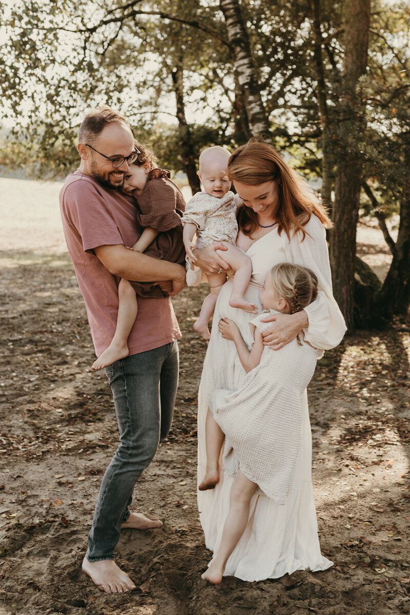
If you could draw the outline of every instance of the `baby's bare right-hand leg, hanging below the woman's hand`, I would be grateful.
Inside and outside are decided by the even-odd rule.
[[[243,309],[250,314],[258,314],[258,307],[245,299],[245,293],[252,275],[252,261],[236,245],[228,244],[227,242],[223,242],[223,244],[228,249],[224,252],[218,252],[218,250],[216,252],[219,256],[223,255],[224,260],[235,272],[229,305],[232,308]]]

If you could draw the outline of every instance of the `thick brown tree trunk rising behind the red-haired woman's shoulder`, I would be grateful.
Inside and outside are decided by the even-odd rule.
[[[353,287],[356,258],[356,227],[360,204],[360,135],[365,128],[357,82],[365,73],[370,23],[370,0],[345,0],[344,75],[337,122],[336,180],[330,233],[333,290],[345,317],[347,333],[355,331]]]

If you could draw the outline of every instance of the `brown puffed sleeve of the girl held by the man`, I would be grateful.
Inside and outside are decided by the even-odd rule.
[[[147,182],[138,197],[140,223],[152,226],[156,231],[170,231],[181,226],[181,216],[176,212],[177,188],[166,178],[155,178]]]

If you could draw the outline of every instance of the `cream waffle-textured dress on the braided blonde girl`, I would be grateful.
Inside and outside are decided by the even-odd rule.
[[[261,322],[275,310],[264,310],[250,322],[262,333],[272,326]],[[320,353],[321,354],[321,353]],[[215,389],[209,407],[226,434],[223,464],[226,474],[242,474],[278,504],[286,495],[302,441],[304,391],[315,371],[318,351],[293,339],[274,352],[262,351],[259,365],[246,374],[232,393]]]

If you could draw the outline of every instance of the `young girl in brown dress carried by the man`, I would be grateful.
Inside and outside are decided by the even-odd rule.
[[[140,152],[125,175],[121,190],[136,199],[135,217],[144,230],[130,248],[148,256],[172,263],[185,264],[183,226],[184,197],[170,179],[170,172],[156,167],[156,156],[147,147],[136,143]],[[128,355],[127,339],[138,312],[136,295],[141,297],[169,296],[172,287],[153,282],[133,282],[121,279],[118,285],[118,316],[114,337],[106,351],[92,365],[92,370],[111,365]]]

